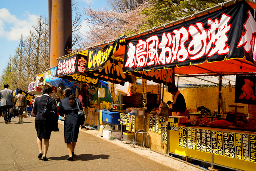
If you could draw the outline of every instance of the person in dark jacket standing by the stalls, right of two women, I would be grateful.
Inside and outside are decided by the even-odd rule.
[[[88,91],[88,84],[87,83],[83,83],[82,85],[82,89],[81,92],[79,94],[79,100],[81,101],[81,105],[83,107],[83,111],[84,111],[84,115],[85,115],[85,121],[84,124],[81,127],[81,130],[86,131],[87,128],[85,127],[86,125],[86,120],[87,120],[87,115],[88,115],[88,106],[89,106],[89,91]]]

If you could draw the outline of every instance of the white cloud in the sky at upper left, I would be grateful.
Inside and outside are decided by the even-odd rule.
[[[0,37],[7,40],[18,40],[22,35],[28,35],[32,25],[36,23],[37,15],[26,12],[22,15],[25,19],[18,19],[9,10],[0,9]]]

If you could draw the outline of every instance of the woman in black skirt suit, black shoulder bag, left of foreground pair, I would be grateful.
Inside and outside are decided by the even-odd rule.
[[[36,115],[35,126],[37,131],[37,144],[39,148],[38,158],[43,156],[43,161],[48,161],[46,153],[49,148],[49,139],[52,131],[59,131],[58,129],[58,114],[55,99],[50,98],[52,95],[52,88],[45,85],[42,89],[43,95],[34,101],[33,114]],[[46,104],[47,103],[47,104]],[[51,111],[46,118],[42,116],[44,106],[48,111]],[[44,154],[42,153],[42,143],[44,139]]]

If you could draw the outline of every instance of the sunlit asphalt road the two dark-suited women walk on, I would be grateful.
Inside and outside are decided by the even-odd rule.
[[[115,145],[108,140],[79,132],[74,161],[67,161],[64,126],[52,132],[48,161],[38,159],[34,117],[4,124],[0,117],[0,171],[174,171],[172,168]]]

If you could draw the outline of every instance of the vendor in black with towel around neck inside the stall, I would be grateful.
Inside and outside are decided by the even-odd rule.
[[[177,87],[168,86],[168,92],[172,94],[172,108],[186,110],[186,102]]]

